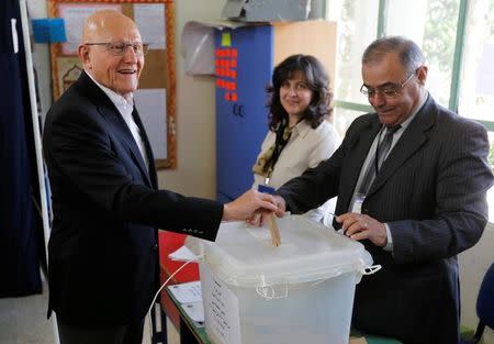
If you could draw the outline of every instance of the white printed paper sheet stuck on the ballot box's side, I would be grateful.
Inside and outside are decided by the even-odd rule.
[[[206,269],[201,269],[201,279],[203,280],[202,298],[206,331],[212,332],[207,334],[221,341],[222,344],[240,344],[237,297],[226,284]]]

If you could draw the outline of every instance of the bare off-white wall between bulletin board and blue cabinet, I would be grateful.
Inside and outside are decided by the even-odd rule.
[[[214,78],[184,73],[180,53],[183,25],[220,19],[226,0],[176,1],[177,168],[158,173],[159,186],[187,196],[215,198]]]

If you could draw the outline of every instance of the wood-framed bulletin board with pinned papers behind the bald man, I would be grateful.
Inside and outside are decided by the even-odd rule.
[[[97,10],[113,9],[137,24],[149,51],[134,101],[158,169],[177,166],[173,4],[175,0],[48,0],[49,16],[64,19],[67,36],[67,42],[50,46],[55,100],[82,71],[77,47],[86,18]]]

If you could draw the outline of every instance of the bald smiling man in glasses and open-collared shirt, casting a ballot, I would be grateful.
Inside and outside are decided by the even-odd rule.
[[[141,344],[157,287],[157,228],[214,241],[272,196],[231,203],[157,189],[153,152],[133,100],[147,45],[134,22],[99,11],[83,27],[85,70],[49,110],[43,135],[53,199],[49,306],[61,344]]]

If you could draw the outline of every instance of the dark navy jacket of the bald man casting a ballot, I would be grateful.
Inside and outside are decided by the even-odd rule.
[[[49,309],[69,325],[144,319],[159,282],[157,228],[216,237],[223,206],[157,190],[122,115],[82,73],[49,110],[43,134],[53,200]]]

